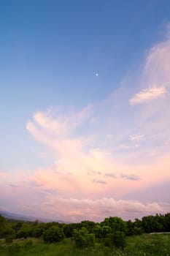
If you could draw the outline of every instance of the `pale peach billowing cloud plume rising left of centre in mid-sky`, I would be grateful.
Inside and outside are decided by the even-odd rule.
[[[86,110],[82,110],[80,113],[86,113]],[[111,162],[113,161],[109,151],[96,147],[93,136],[88,138],[85,135],[75,135],[77,129],[80,129],[82,125],[82,116],[84,114],[82,115],[80,113],[74,113],[75,116],[72,114],[71,117],[65,115],[65,121],[64,115],[62,116],[61,113],[55,116],[55,118],[52,118],[51,116],[47,116],[46,113],[39,112],[38,116],[43,116],[43,122],[40,122],[39,118],[35,118],[36,115],[34,114],[33,120],[28,121],[27,129],[36,140],[43,143],[53,152],[53,166],[59,173],[73,173],[77,178],[79,176],[81,178],[82,173],[83,175],[90,173],[91,176],[101,175],[101,170],[110,170],[113,165]],[[77,116],[79,116],[81,121],[77,121]],[[67,131],[64,134],[62,129],[54,129],[54,124],[57,127],[58,124],[62,126],[61,119]],[[76,120],[76,123],[73,120]],[[50,127],[45,125],[46,123],[48,125],[50,123],[53,124],[53,128],[50,129]],[[80,133],[79,130],[78,132]],[[93,143],[94,146],[91,146]]]

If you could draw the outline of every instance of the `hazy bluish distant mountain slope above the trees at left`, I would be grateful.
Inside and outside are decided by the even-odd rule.
[[[26,215],[22,215],[22,214],[13,214],[9,211],[0,210],[0,214],[1,214],[1,216],[3,216],[6,219],[17,219],[17,220],[23,220],[23,221],[27,221],[27,222],[34,222],[36,219],[38,219],[39,222],[59,222],[59,223],[63,223],[62,220],[32,217],[32,216],[26,216]]]

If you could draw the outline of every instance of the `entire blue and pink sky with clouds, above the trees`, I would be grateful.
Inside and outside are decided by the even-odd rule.
[[[170,212],[170,1],[0,1],[0,210]]]

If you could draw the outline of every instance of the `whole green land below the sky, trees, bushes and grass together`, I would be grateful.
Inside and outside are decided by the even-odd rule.
[[[151,234],[154,233],[154,234]],[[26,222],[0,215],[0,256],[170,256],[170,214],[100,223]]]

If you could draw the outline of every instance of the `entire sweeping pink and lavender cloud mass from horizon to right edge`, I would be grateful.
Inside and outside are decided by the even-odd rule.
[[[8,184],[0,173],[1,195],[20,211],[67,221],[170,211],[163,197],[128,197],[170,181],[169,37],[147,53],[138,85],[129,83],[82,110],[36,111],[26,129],[53,164]]]

